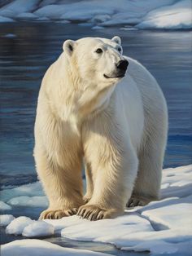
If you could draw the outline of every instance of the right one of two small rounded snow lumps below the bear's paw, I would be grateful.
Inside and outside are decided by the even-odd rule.
[[[53,225],[44,221],[38,220],[24,227],[22,236],[37,237],[54,235],[55,228]]]

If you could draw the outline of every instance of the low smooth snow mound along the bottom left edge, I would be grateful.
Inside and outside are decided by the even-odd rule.
[[[2,256],[107,256],[110,254],[94,253],[87,249],[63,248],[59,245],[51,244],[47,241],[37,239],[24,239],[13,241],[7,245],[2,245]]]

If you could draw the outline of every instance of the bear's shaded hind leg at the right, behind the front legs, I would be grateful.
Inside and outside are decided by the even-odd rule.
[[[139,152],[137,179],[127,207],[147,205],[159,199],[167,133],[155,131],[154,137],[147,138]]]

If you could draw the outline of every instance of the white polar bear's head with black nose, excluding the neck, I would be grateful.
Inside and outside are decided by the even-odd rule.
[[[111,40],[81,38],[65,41],[63,51],[72,72],[77,73],[83,83],[110,86],[124,77],[129,64],[122,55],[120,44],[119,37]]]

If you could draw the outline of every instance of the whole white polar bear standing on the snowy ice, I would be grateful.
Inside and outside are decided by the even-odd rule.
[[[34,157],[50,202],[40,218],[115,218],[157,200],[167,132],[162,91],[119,37],[65,41],[37,103]]]

